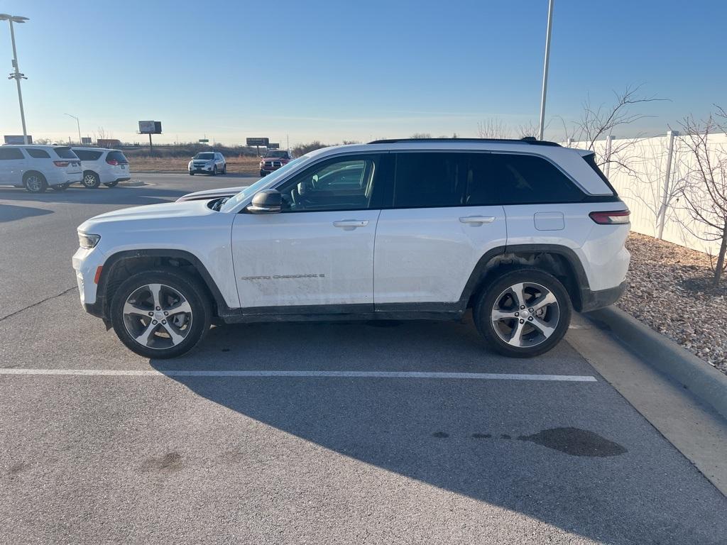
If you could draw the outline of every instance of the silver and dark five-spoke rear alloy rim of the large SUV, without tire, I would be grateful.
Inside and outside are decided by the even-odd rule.
[[[538,283],[521,282],[502,291],[490,313],[495,333],[510,346],[534,347],[555,332],[561,318],[558,299]]]

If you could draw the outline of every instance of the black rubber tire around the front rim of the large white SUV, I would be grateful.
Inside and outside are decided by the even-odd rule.
[[[190,304],[192,310],[190,331],[179,344],[159,348],[148,347],[137,342],[126,328],[124,321],[126,299],[134,294],[134,291],[150,283],[164,284],[173,288],[182,294]],[[209,330],[211,321],[212,306],[204,286],[196,278],[182,273],[174,267],[159,267],[130,276],[116,289],[111,299],[111,324],[113,330],[116,331],[116,335],[119,336],[121,342],[126,344],[129,350],[145,358],[176,358],[189,352]],[[145,327],[144,324],[140,324],[140,326]],[[159,329],[161,329],[161,326],[159,326]],[[160,333],[164,334],[157,330],[153,334],[154,338],[164,341],[164,337],[158,337]]]

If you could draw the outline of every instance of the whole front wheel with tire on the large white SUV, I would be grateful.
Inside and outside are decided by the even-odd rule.
[[[172,267],[132,275],[111,301],[116,335],[145,358],[175,358],[192,350],[211,320],[204,287]]]

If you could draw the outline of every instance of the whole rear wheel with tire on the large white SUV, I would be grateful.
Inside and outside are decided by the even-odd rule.
[[[473,318],[494,350],[532,358],[563,339],[571,323],[571,298],[561,281],[545,271],[512,270],[483,290]]]

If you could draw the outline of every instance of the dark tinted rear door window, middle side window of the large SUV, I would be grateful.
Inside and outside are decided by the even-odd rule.
[[[467,185],[466,153],[398,153],[395,208],[462,206]]]

